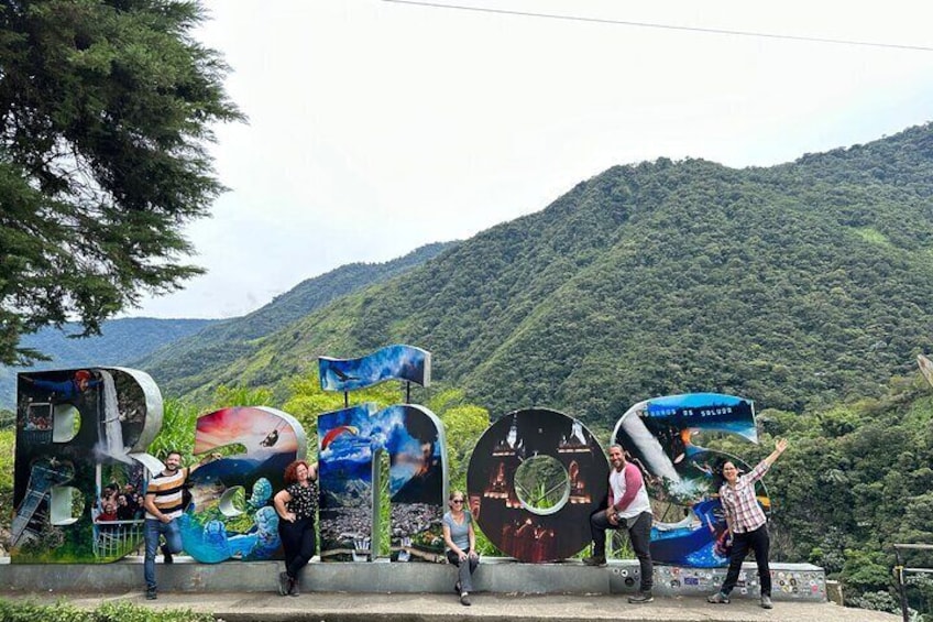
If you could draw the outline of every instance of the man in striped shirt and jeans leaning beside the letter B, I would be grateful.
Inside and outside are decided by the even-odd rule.
[[[217,455],[209,458],[217,458]],[[182,455],[169,451],[165,458],[165,470],[152,478],[146,487],[145,501],[145,563],[143,576],[146,582],[146,598],[155,600],[158,592],[155,585],[155,550],[158,548],[160,536],[165,537],[162,554],[165,564],[172,564],[172,555],[182,550],[182,532],[177,519],[185,511],[183,492],[185,481],[198,467],[182,468]]]

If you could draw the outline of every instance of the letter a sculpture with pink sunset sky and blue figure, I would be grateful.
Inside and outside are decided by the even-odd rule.
[[[285,467],[305,458],[305,430],[292,415],[263,406],[198,417],[196,455],[238,444],[245,454],[208,462],[188,480],[191,504],[180,519],[182,542],[198,561],[281,558],[272,493],[284,487]]]

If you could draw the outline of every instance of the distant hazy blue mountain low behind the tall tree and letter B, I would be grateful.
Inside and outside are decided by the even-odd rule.
[[[31,368],[0,367],[0,408],[17,403],[17,373],[46,369],[87,365],[125,365],[129,361],[216,324],[216,319],[155,319],[133,317],[112,319],[101,326],[101,335],[70,338],[80,334],[78,324],[66,324],[62,330],[43,328],[22,338],[23,348],[33,348],[51,357]]]

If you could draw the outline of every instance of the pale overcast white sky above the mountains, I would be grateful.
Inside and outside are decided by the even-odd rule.
[[[208,0],[249,124],[188,238],[209,270],[129,315],[231,317],[354,261],[544,209],[616,164],[770,165],[933,120],[923,0]]]

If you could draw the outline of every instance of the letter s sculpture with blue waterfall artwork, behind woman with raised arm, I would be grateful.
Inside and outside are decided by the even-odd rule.
[[[731,460],[749,469],[732,456],[694,445],[693,437],[701,432],[757,443],[753,403],[716,393],[656,397],[632,406],[613,433],[613,443],[622,445],[641,469],[656,501],[651,559],[659,564],[712,568],[728,561],[722,553],[726,533],[718,501],[722,468]],[[769,510],[760,482],[758,500]]]

